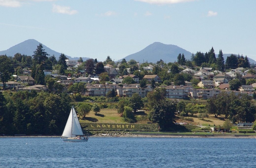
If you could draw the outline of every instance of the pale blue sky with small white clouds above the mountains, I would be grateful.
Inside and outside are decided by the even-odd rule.
[[[256,60],[255,9],[255,0],[0,0],[0,51],[35,39],[71,57],[116,61],[161,42]]]

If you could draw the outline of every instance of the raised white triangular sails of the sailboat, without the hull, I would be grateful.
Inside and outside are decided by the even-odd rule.
[[[83,131],[78,121],[74,106],[72,106],[62,137],[76,137],[78,135],[83,136]]]

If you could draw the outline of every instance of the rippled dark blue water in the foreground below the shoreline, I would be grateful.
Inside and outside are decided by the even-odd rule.
[[[256,139],[0,138],[0,167],[256,167]]]

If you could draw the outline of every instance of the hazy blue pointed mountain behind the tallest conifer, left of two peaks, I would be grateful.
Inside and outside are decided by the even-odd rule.
[[[29,39],[29,40],[23,41],[19,44],[16,44],[15,46],[12,46],[7,50],[0,51],[0,55],[7,55],[7,56],[13,57],[16,53],[20,53],[20,54],[32,56],[34,54],[34,51],[36,51],[37,46],[39,44],[40,44],[40,42],[38,42],[34,39]],[[47,52],[47,54],[49,54],[50,56],[54,55],[56,58],[58,58],[61,55],[61,53],[50,49],[49,47],[47,47],[44,44],[42,44],[42,46],[44,47],[43,49],[45,49],[45,52]],[[65,54],[65,56],[68,57],[69,59],[79,59],[78,57],[72,58],[71,56],[68,56],[66,54]],[[83,57],[84,61],[87,59],[89,59],[89,58]]]

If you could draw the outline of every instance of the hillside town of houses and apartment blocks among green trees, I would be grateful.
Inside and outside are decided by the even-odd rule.
[[[39,45],[38,47],[38,50],[42,52],[42,46]],[[17,59],[18,57],[20,63]],[[256,69],[250,67],[229,68],[225,71],[220,71],[216,67],[197,66],[195,61],[193,62],[194,66],[189,67],[185,64],[178,64],[180,63],[179,61],[177,63],[164,64],[162,60],[158,63],[138,63],[135,60],[126,61],[123,59],[122,62],[114,62],[109,56],[104,63],[98,63],[97,59],[88,59],[86,61],[82,59],[66,59],[64,54],[59,58],[59,60],[62,59],[63,65],[53,59],[50,63],[52,67],[43,69],[43,75],[46,80],[51,78],[54,79],[54,82],[61,84],[57,85],[59,88],[52,88],[51,86],[49,87],[47,81],[42,82],[34,79],[33,66],[24,66],[26,64],[22,63],[22,58],[25,56],[21,57],[17,53],[12,58],[16,62],[18,61],[18,64],[23,64],[23,66],[14,66],[16,68],[13,74],[8,74],[10,76],[8,81],[0,76],[2,77],[2,82],[0,83],[2,90],[35,90],[36,92],[49,91],[72,94],[73,92],[69,87],[74,83],[84,82],[86,90],[81,94],[87,96],[105,96],[106,93],[114,89],[118,97],[131,97],[133,93],[138,93],[143,98],[154,88],[160,87],[166,89],[166,98],[206,100],[218,95],[220,92],[228,94],[232,92],[235,95],[247,94],[252,97],[255,94],[254,88],[256,88]],[[30,59],[32,62],[33,58],[30,57]],[[180,58],[178,57],[178,59]],[[46,61],[49,62],[49,59]],[[56,64],[55,66],[54,63]],[[1,66],[2,73],[6,71],[3,68]],[[163,74],[163,71],[165,74]],[[104,83],[102,83],[99,77],[100,73],[106,73],[109,80],[104,80]],[[173,75],[178,76],[178,81]],[[146,82],[143,86],[140,83],[142,79]],[[234,88],[232,84],[232,87],[230,87],[230,82],[236,80],[239,80],[237,81],[238,86]]]

